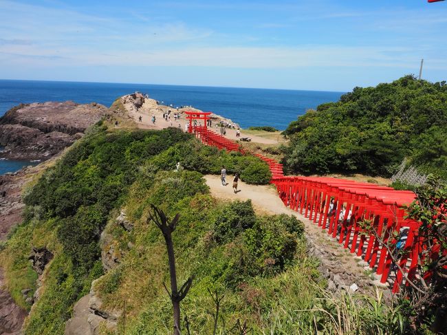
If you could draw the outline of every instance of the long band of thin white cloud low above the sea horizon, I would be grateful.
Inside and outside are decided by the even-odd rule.
[[[65,47],[58,52],[36,45],[0,45],[3,54],[14,54],[9,63],[26,61],[39,65],[194,66],[240,68],[287,67],[417,67],[413,50],[402,47],[179,47],[144,50],[100,50]],[[31,58],[35,58],[32,60]],[[447,69],[444,59],[426,61],[427,68]]]

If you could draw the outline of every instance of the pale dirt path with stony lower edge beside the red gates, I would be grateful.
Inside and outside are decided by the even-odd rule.
[[[309,250],[321,261],[320,270],[327,277],[329,288],[349,287],[356,283],[358,291],[364,294],[375,294],[374,285],[380,286],[378,281],[371,278],[371,272],[364,268],[359,257],[355,257],[347,249],[342,248],[325,231],[306,219],[300,213],[287,208],[276,194],[272,185],[249,185],[239,182],[239,192],[235,194],[232,189],[232,177],[227,178],[227,186],[222,186],[219,175],[206,175],[206,184],[210,186],[213,196],[219,199],[252,201],[254,209],[260,214],[287,214],[294,215],[305,224],[305,235],[309,243]]]

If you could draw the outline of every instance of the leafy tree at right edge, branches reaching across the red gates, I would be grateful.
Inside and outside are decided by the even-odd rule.
[[[396,271],[406,280],[400,298],[409,304],[407,317],[412,332],[420,334],[429,325],[436,334],[444,334],[447,329],[447,185],[429,175],[427,183],[415,193],[417,198],[404,206],[406,218],[419,222],[413,241],[419,250],[413,272],[406,273],[399,261],[411,252],[408,248],[396,248],[399,233],[391,233],[384,239],[371,220],[360,224],[364,233],[375,235],[386,248]]]

